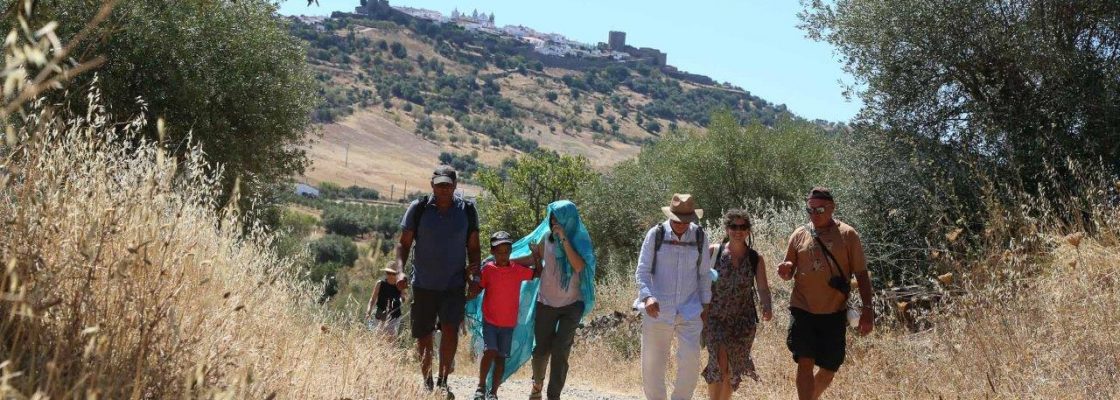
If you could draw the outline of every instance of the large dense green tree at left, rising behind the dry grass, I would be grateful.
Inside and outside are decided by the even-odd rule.
[[[36,7],[69,43],[101,2]],[[199,142],[207,160],[225,169],[223,188],[240,178],[243,210],[254,196],[286,190],[289,177],[304,171],[315,83],[306,45],[277,18],[273,2],[124,0],[88,34],[69,54],[106,56],[96,74],[103,105],[118,118],[162,118],[168,149]],[[94,76],[73,84],[90,85]],[[55,93],[65,99],[53,103],[88,104],[81,91]],[[158,139],[155,124],[146,133]]]

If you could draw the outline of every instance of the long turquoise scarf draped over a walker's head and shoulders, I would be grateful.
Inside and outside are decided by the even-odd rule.
[[[553,215],[557,217],[557,222],[563,226],[564,235],[571,242],[572,249],[584,259],[585,267],[579,275],[579,290],[584,297],[582,317],[587,317],[591,309],[595,308],[595,251],[591,246],[591,235],[588,234],[587,226],[584,226],[584,221],[580,220],[575,203],[558,201],[549,204],[544,221],[541,221],[532,233],[513,243],[513,253],[510,254],[510,258],[517,259],[532,254],[532,246],[541,243],[541,241],[544,241],[541,243],[543,245],[556,245],[557,267],[560,268],[561,277],[560,285],[567,288],[571,282],[575,269],[571,267],[571,262],[568,260],[568,255],[560,242],[548,241],[548,236],[552,234],[550,221]],[[521,305],[517,309],[517,326],[513,328],[513,345],[510,347],[510,356],[505,360],[503,381],[517,372],[533,356],[533,345],[535,344],[533,324],[536,316],[536,295],[540,292],[540,279],[521,283]],[[484,290],[478,297],[467,303],[466,320],[472,334],[472,348],[476,353],[482,353],[484,348],[483,298],[485,296],[486,292]]]

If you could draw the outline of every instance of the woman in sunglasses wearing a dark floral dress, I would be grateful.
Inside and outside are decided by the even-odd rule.
[[[766,262],[750,245],[750,216],[743,210],[728,211],[724,214],[724,230],[727,239],[710,249],[718,277],[711,283],[703,333],[708,343],[703,379],[712,400],[730,399],[743,375],[758,380],[750,359],[758,325],[755,296],[762,304],[763,320],[773,317]]]

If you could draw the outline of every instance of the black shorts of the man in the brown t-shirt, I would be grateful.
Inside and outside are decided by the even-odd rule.
[[[847,345],[847,311],[812,314],[791,307],[785,345],[793,353],[793,362],[810,357],[816,366],[833,372],[840,370]]]

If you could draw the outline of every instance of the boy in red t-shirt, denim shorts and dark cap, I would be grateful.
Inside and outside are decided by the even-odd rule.
[[[505,372],[505,359],[513,343],[513,328],[517,326],[517,306],[521,305],[521,282],[536,278],[533,269],[510,261],[513,240],[503,231],[491,235],[491,254],[494,261],[482,270],[479,287],[486,290],[483,297],[483,353],[478,368],[478,390],[475,400],[497,399],[497,388]],[[536,257],[534,254],[533,259]],[[536,269],[540,271],[540,269]],[[486,373],[494,366],[494,387],[486,393]]]

